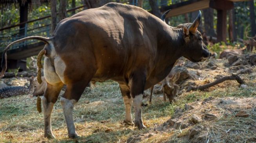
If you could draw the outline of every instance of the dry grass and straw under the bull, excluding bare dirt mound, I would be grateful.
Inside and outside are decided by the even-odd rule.
[[[229,75],[223,67],[223,63],[216,61],[219,70],[202,70],[205,75],[203,79],[196,81],[196,84],[205,84],[208,80],[218,74]],[[220,68],[222,67],[222,68]],[[164,103],[161,95],[154,95],[153,103],[143,107],[142,116],[147,129],[138,130],[136,127],[124,125],[124,105],[118,84],[113,81],[96,83],[93,90],[86,89],[74,108],[74,120],[78,134],[78,139],[67,138],[67,128],[64,115],[59,100],[54,106],[52,114],[53,133],[56,139],[44,138],[44,118],[43,114],[36,111],[36,98],[28,96],[12,97],[0,100],[0,143],[123,143],[129,137],[139,134],[151,134],[143,139],[143,143],[162,143],[162,142],[190,142],[188,138],[191,125],[185,129],[173,129],[172,127],[163,130],[154,130],[163,125],[170,118],[175,116],[176,109],[184,109],[185,104],[194,105],[195,110],[188,110],[183,116],[198,114],[203,110],[211,110],[217,118],[211,121],[200,122],[204,127],[202,131],[203,142],[255,142],[256,112],[255,106],[248,108],[249,117],[234,117],[236,114],[232,109],[235,104],[228,108],[218,106],[219,98],[226,97],[238,99],[249,99],[256,97],[256,69],[253,68],[252,74],[241,75],[245,80],[247,88],[239,88],[235,81],[226,81],[218,86],[209,89],[208,92],[192,91],[183,93],[177,102],[170,105]],[[149,91],[146,91],[149,93]],[[63,94],[63,93],[62,93]],[[216,102],[207,103],[201,106],[198,103],[205,98],[213,97]],[[149,97],[144,99],[147,102]],[[198,106],[196,106],[198,104]],[[255,103],[254,103],[255,105]],[[248,104],[249,106],[249,104]],[[240,109],[242,109],[242,105]],[[251,111],[249,111],[251,109]],[[254,110],[253,110],[254,109]],[[246,109],[247,110],[247,109]],[[134,116],[134,115],[133,115]]]

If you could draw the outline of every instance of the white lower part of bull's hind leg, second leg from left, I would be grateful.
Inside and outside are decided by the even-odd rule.
[[[61,98],[60,102],[62,104],[63,113],[65,116],[66,124],[67,124],[67,132],[69,134],[69,138],[76,138],[78,134],[76,133],[76,129],[74,127],[73,120],[73,109],[76,100],[68,100],[66,98]]]

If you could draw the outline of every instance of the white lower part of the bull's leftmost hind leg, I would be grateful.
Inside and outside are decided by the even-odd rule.
[[[51,129],[51,113],[54,103],[48,103],[45,97],[42,97],[42,102],[44,108],[44,137],[55,138]]]

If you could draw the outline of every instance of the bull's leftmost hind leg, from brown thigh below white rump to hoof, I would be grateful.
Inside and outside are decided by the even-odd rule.
[[[44,109],[44,137],[55,138],[51,129],[51,113],[53,111],[54,103],[58,99],[60,90],[63,84],[60,83],[56,86],[52,86],[47,83],[47,89],[44,97],[42,97],[43,109]]]

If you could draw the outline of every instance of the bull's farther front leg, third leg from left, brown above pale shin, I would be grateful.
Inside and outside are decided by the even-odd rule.
[[[123,103],[125,105],[125,119],[124,123],[133,124],[133,118],[131,115],[131,105],[133,103],[131,92],[128,86],[119,83],[119,87],[123,96]]]

